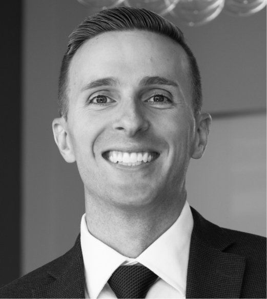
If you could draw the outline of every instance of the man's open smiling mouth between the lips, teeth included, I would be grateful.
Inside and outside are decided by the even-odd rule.
[[[117,163],[126,166],[136,166],[144,163],[149,163],[158,158],[159,154],[156,152],[119,152],[109,151],[104,153],[104,158],[112,163]]]

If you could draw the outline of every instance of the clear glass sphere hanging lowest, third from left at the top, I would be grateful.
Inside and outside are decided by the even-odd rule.
[[[212,21],[223,9],[224,0],[180,0],[170,14],[188,26]]]

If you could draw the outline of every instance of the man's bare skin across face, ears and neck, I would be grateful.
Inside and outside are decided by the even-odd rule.
[[[53,121],[55,142],[67,162],[77,162],[90,233],[128,257],[139,256],[179,217],[189,161],[207,145],[211,117],[194,117],[188,70],[179,44],[137,30],[96,36],[71,61],[68,121]],[[116,84],[88,85],[107,77]],[[175,84],[142,84],[148,77]],[[107,102],[97,103],[97,96]],[[118,165],[102,156],[112,150],[158,157]]]

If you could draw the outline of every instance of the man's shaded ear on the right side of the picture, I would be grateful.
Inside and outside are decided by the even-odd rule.
[[[196,133],[192,158],[199,159],[203,156],[210,133],[211,116],[208,113],[198,114],[196,117]]]

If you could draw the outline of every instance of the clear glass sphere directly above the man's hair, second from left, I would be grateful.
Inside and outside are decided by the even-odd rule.
[[[155,13],[165,15],[175,8],[179,0],[125,0],[124,5],[145,8]]]

